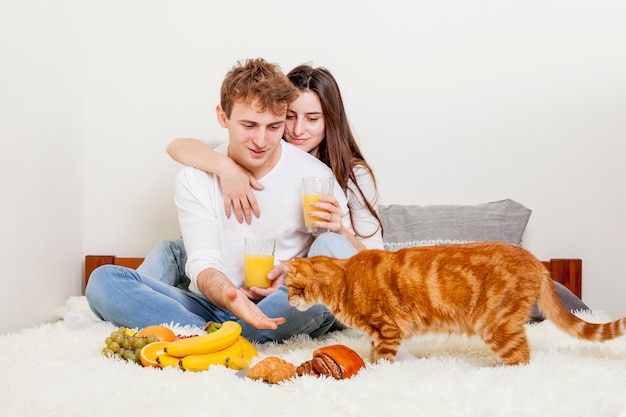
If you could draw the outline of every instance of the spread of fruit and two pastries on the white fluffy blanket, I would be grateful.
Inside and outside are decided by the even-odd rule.
[[[212,365],[244,370],[258,355],[254,345],[241,336],[241,325],[235,321],[210,322],[205,330],[206,334],[183,336],[166,326],[148,326],[138,332],[120,327],[105,339],[102,354],[143,366],[185,371],[205,371]],[[315,350],[313,358],[298,367],[276,356],[267,357],[250,368],[246,377],[270,384],[303,375],[348,379],[364,367],[355,351],[331,345]]]

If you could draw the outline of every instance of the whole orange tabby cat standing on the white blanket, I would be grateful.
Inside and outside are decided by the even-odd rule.
[[[567,310],[550,273],[527,250],[497,242],[366,250],[349,259],[283,261],[289,302],[326,305],[372,339],[370,361],[392,361],[403,339],[426,332],[478,334],[507,365],[527,363],[524,325],[535,302],[572,336],[609,340],[626,318],[592,324]]]

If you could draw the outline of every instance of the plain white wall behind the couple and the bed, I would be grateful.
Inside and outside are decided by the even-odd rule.
[[[0,331],[78,294],[83,255],[178,235],[165,147],[224,140],[220,82],[257,56],[335,74],[384,203],[515,199],[533,210],[525,246],[582,258],[584,301],[626,315],[621,0],[15,4],[29,24],[1,14],[14,67],[0,81]]]

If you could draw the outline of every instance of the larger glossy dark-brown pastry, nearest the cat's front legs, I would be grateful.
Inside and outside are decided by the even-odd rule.
[[[296,373],[347,379],[364,367],[365,362],[355,351],[344,345],[332,345],[313,352],[313,359],[301,363]]]

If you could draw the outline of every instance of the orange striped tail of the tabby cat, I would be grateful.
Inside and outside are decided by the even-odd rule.
[[[548,271],[541,281],[538,304],[539,309],[548,320],[579,339],[602,342],[626,334],[626,317],[610,323],[596,324],[586,322],[575,316],[561,302]]]

